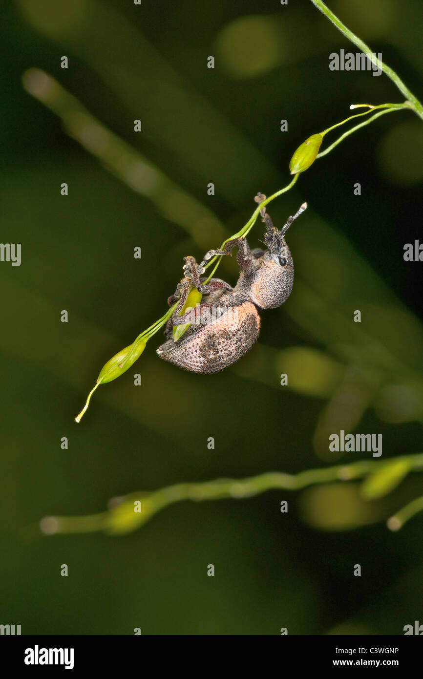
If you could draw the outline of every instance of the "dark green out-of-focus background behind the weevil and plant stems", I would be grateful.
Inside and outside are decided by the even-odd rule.
[[[329,5],[421,98],[421,1]],[[372,502],[355,482],[181,502],[122,536],[42,536],[39,520],[183,481],[371,459],[330,454],[340,429],[381,433],[383,460],[421,449],[422,274],[403,246],[420,234],[422,121],[382,117],[268,208],[282,225],[309,206],[288,234],[293,293],[262,312],[242,361],[186,373],[155,354],[160,332],[77,425],[105,361],[166,311],[182,257],[239,230],[257,191],[287,185],[295,148],[350,103],[403,97],[384,75],[329,71],[331,52],[357,50],[306,0],[16,0],[1,18],[1,240],[22,243],[22,265],[0,265],[0,622],[22,634],[403,634],[422,614],[422,517],[397,533],[385,521],[422,494],[419,474]],[[261,223],[250,236],[260,244]],[[234,258],[218,275],[236,282]]]

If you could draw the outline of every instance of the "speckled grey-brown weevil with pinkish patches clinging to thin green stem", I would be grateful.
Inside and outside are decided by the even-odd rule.
[[[257,194],[255,201],[265,200]],[[294,265],[285,234],[294,219],[306,210],[301,205],[281,230],[276,229],[265,207],[260,211],[265,224],[265,250],[251,250],[246,238],[234,238],[223,250],[209,250],[200,264],[194,257],[184,257],[184,277],[168,298],[169,306],[178,302],[166,325],[167,341],[157,349],[160,358],[194,373],[216,373],[238,361],[255,344],[260,331],[258,309],[274,309],[291,294]],[[202,278],[206,262],[215,255],[229,255],[238,247],[236,260],[240,276],[232,288],[220,278],[208,282]],[[196,309],[185,310],[191,287],[206,295]],[[204,299],[204,298],[203,298]],[[190,323],[185,333],[174,341],[172,329]]]

